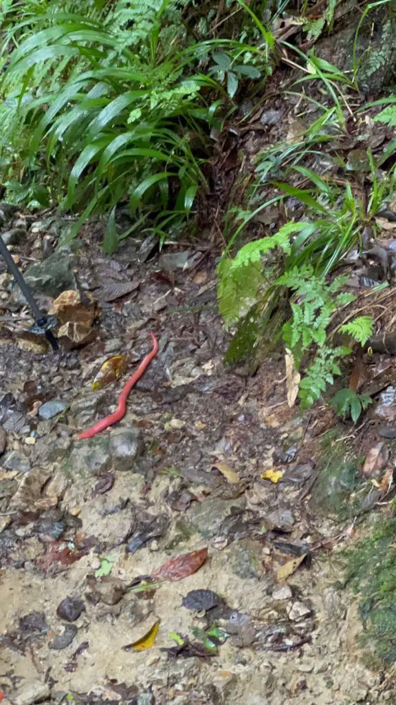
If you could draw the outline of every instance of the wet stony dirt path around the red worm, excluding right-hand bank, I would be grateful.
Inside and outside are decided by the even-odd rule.
[[[281,356],[254,377],[225,369],[217,252],[179,243],[160,255],[128,240],[110,259],[97,223],[85,245],[54,260],[51,219],[31,216],[25,227],[12,250],[23,268],[44,262],[47,278],[35,285],[43,309],[78,290],[94,313],[74,309],[85,329],[68,329],[60,352],[46,350],[24,332],[28,309],[0,275],[4,699],[396,701],[385,667],[363,658],[357,602],[340,586],[339,537],[352,528],[309,502],[333,417],[287,407]],[[159,354],[123,420],[76,440],[116,408],[153,331]],[[113,355],[126,356],[127,369],[92,391]],[[169,560],[204,548],[195,572],[161,575]]]

